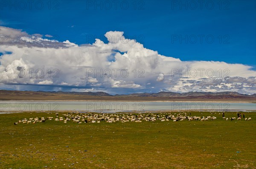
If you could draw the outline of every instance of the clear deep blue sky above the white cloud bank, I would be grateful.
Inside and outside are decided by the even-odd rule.
[[[116,9],[111,3],[109,10],[104,1],[98,2],[102,3],[102,9],[101,6],[94,6],[94,1],[52,1],[50,10],[47,2],[41,10],[35,8],[35,3],[32,3],[32,9],[26,4],[24,10],[20,9],[22,4],[17,10],[14,6],[9,10],[9,4],[1,4],[1,25],[22,29],[29,34],[58,35],[58,40],[69,39],[76,44],[93,43],[91,36],[102,38],[107,31],[124,31],[125,36],[135,38],[145,48],[165,56],[183,61],[242,63],[255,68],[254,0],[222,1],[221,10],[217,1],[211,1],[214,2],[211,10],[210,3],[208,6],[203,3],[201,9],[197,3],[198,8],[193,9],[191,1],[183,1],[187,6],[181,6],[181,9],[180,4],[176,5],[179,1],[137,1],[135,9],[134,1],[118,1]],[[125,10],[121,8],[121,3],[125,8],[126,2],[129,7]],[[37,5],[40,8],[40,4]],[[180,36],[186,38],[186,35],[188,42],[182,40],[180,44]],[[201,35],[204,36],[202,43]],[[178,39],[174,40],[177,36]],[[211,39],[207,41],[207,36],[213,37],[214,41],[209,43]],[[197,37],[195,43],[194,37]]]

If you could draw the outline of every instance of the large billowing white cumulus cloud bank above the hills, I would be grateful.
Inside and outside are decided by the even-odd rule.
[[[6,89],[105,91],[108,93],[237,91],[253,94],[256,71],[243,64],[181,61],[145,48],[122,31],[108,43],[59,42],[51,35],[0,26],[1,87]],[[19,36],[10,40],[8,36]],[[23,38],[23,39],[22,39]],[[50,38],[50,39],[49,39]],[[171,52],[170,52],[171,53]],[[38,85],[38,87],[37,87]],[[50,88],[52,87],[52,88]],[[2,88],[1,88],[2,89]]]

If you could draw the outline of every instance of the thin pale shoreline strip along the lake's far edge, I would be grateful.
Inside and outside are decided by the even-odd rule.
[[[256,101],[160,101],[160,100],[157,100],[157,101],[132,101],[132,100],[118,100],[118,101],[113,101],[113,100],[110,100],[110,101],[106,101],[106,100],[0,100],[0,102],[12,102],[12,101],[17,101],[17,102],[46,102],[46,101],[93,101],[93,102],[192,102],[192,103],[195,103],[195,102],[198,102],[198,103],[255,103],[256,104]]]

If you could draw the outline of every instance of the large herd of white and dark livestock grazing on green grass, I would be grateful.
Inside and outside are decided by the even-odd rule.
[[[52,113],[47,113],[52,114]],[[214,113],[211,113],[214,114]],[[216,114],[216,113],[215,113]],[[221,113],[219,113],[221,114]],[[175,117],[176,115],[176,117]],[[191,113],[189,113],[191,115]],[[53,117],[36,117],[36,118],[29,118],[29,119],[22,119],[14,123],[14,125],[17,125],[19,123],[23,124],[36,124],[40,122],[45,122],[47,120],[54,120],[54,121],[62,121],[64,123],[67,123],[68,121],[73,121],[75,123],[81,124],[81,123],[100,123],[102,121],[105,121],[107,123],[114,123],[114,122],[128,122],[128,121],[134,121],[134,122],[142,122],[142,121],[214,121],[217,119],[215,116],[189,116],[187,113],[174,113],[172,114],[166,114],[166,113],[138,113],[137,115],[134,115],[132,113],[129,114],[95,114],[95,113],[79,113],[79,112],[72,112],[67,114],[62,114],[63,117],[59,117],[59,113],[55,113],[55,118]],[[202,115],[202,114],[201,114]],[[232,118],[225,118],[224,120],[235,120],[235,117]],[[241,118],[237,118],[237,121],[241,121]],[[251,121],[251,118],[245,118],[245,121]]]

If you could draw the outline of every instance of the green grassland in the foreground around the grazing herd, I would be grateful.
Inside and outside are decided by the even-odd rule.
[[[55,117],[55,112],[1,114],[0,168],[255,169],[256,113],[244,114],[252,121],[226,121],[216,112],[215,121],[202,122],[64,124],[48,120],[17,125],[14,122],[23,118]],[[210,112],[193,115],[213,116]],[[225,117],[236,117],[236,113]]]

